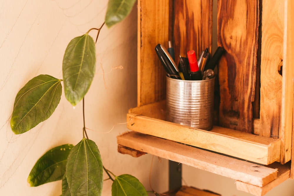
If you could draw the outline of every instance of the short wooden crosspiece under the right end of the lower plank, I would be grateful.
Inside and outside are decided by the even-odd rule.
[[[287,180],[289,178],[289,175],[290,175],[290,163],[287,163],[285,165],[280,165],[280,164],[279,165],[275,164],[275,165],[276,165],[276,167],[273,167],[273,168],[278,169],[278,175],[277,175],[277,178],[275,180],[273,180],[270,183],[264,185],[263,187],[250,185],[248,183],[241,182],[241,181],[237,180],[236,181],[237,189],[241,190],[241,191],[251,193],[251,194],[256,195],[256,196],[265,195],[267,192],[272,190],[274,187],[278,186],[279,184],[281,184],[282,182],[284,182],[285,180]]]

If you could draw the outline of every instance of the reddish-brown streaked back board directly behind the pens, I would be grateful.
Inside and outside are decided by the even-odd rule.
[[[178,57],[187,57],[189,50],[196,54],[212,45],[212,0],[174,1],[174,48]]]

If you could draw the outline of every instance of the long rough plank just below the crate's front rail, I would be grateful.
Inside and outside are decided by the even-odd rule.
[[[138,132],[120,135],[117,137],[117,142],[151,155],[256,186],[266,185],[277,177],[276,169]]]

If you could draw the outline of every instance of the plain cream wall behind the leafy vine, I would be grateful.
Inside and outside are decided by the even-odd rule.
[[[14,99],[29,79],[39,74],[62,78],[67,44],[103,23],[105,0],[0,1],[0,195],[61,195],[61,181],[28,187],[26,179],[36,160],[52,147],[82,139],[82,103],[75,109],[64,92],[53,115],[21,135],[10,128]],[[151,155],[133,158],[117,152],[116,136],[127,131],[126,113],[136,107],[137,12],[121,24],[103,27],[96,45],[96,76],[85,97],[86,127],[101,152],[103,165],[116,175],[128,173],[149,187]],[[97,31],[90,35],[96,37]],[[103,65],[106,87],[100,64]],[[112,67],[123,69],[111,71]],[[110,72],[111,71],[111,72]],[[115,125],[116,124],[116,125]],[[110,133],[108,132],[115,127]],[[167,190],[167,160],[153,161],[152,185]],[[160,173],[160,175],[158,175]],[[106,178],[106,175],[105,175]],[[111,195],[111,181],[103,195]]]

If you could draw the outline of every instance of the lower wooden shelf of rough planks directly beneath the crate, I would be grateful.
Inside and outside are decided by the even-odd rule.
[[[233,178],[237,188],[264,195],[290,176],[290,165],[274,162],[263,166],[148,134],[127,132],[117,137],[119,152],[138,157],[149,153],[201,170]],[[126,150],[121,151],[126,147]],[[136,153],[133,153],[135,151]],[[137,153],[141,151],[144,153]]]

